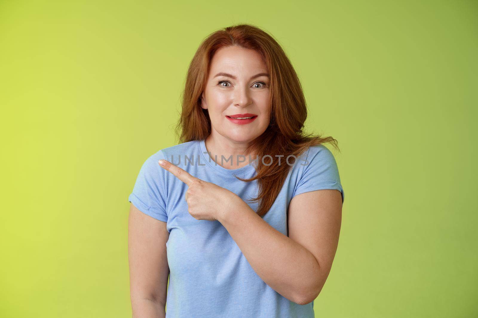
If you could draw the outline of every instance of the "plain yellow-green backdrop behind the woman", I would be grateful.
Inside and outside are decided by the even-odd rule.
[[[477,1],[1,1],[1,317],[131,317],[128,195],[210,32],[272,33],[338,140],[316,317],[478,315]],[[330,148],[330,147],[329,147]]]

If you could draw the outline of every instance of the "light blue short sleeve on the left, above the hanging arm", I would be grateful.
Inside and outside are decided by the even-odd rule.
[[[167,222],[166,179],[165,170],[158,164],[160,159],[164,159],[161,150],[146,159],[141,166],[133,192],[128,197],[128,201],[144,214]]]

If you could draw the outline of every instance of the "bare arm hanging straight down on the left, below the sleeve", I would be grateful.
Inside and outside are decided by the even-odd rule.
[[[133,318],[166,316],[169,266],[166,223],[130,205],[128,219],[128,260]]]

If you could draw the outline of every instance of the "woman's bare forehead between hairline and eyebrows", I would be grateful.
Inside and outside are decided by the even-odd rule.
[[[266,72],[267,66],[258,51],[229,46],[216,51],[211,60],[213,72]],[[213,75],[214,76],[214,75]]]

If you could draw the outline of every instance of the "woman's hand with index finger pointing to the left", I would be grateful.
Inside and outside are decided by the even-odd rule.
[[[198,179],[167,160],[160,160],[158,164],[188,186],[185,195],[188,212],[197,220],[220,220],[229,209],[245,203],[228,189]]]

